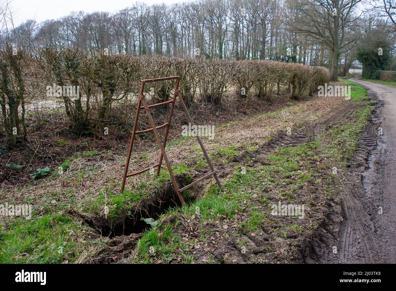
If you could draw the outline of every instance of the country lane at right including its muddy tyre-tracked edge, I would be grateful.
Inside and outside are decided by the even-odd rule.
[[[361,151],[351,166],[352,177],[342,195],[339,262],[395,263],[396,87],[357,77],[350,80],[377,96],[382,106],[371,130],[360,140]],[[376,144],[370,139],[375,134]]]

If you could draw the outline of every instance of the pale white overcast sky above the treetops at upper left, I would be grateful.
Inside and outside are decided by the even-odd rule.
[[[7,0],[0,0],[4,4]],[[114,13],[131,6],[135,0],[8,0],[14,11],[14,26],[17,27],[27,19],[36,19],[38,23],[47,19],[58,19],[71,11],[107,11]],[[160,3],[190,2],[190,0],[140,0],[147,5]]]

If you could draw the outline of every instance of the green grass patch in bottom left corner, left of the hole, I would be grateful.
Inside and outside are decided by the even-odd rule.
[[[75,218],[61,214],[16,218],[0,230],[0,263],[61,263],[64,256],[72,262],[76,250],[87,244],[82,230],[89,232]]]

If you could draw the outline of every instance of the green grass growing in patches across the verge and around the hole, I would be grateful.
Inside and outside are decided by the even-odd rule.
[[[325,180],[321,176],[320,170],[323,167],[330,170],[331,167],[329,165],[317,165],[316,161],[320,161],[320,156],[326,156],[331,161],[345,165],[345,161],[356,151],[358,139],[373,109],[365,89],[353,82],[346,81],[346,84],[350,85],[352,90],[352,100],[350,101],[364,104],[354,113],[353,121],[330,124],[330,128],[322,135],[322,142],[314,140],[298,146],[276,148],[265,157],[266,161],[263,165],[254,168],[249,167],[249,159],[247,159],[247,165],[234,164],[230,170],[230,175],[223,182],[222,190],[219,190],[212,181],[200,199],[184,207],[169,209],[164,213],[159,220],[172,216],[172,225],[146,230],[137,242],[131,261],[155,263],[160,260],[161,262],[169,262],[174,260],[175,256],[180,256],[182,262],[193,262],[194,255],[191,245],[195,242],[188,238],[188,243],[186,243],[177,232],[177,228],[185,226],[186,220],[192,216],[198,216],[201,222],[221,223],[221,220],[233,219],[237,213],[243,211],[248,214],[247,219],[240,222],[238,227],[245,228],[249,232],[257,232],[263,224],[276,223],[275,220],[269,220],[265,215],[269,213],[266,208],[270,209],[272,193],[286,197],[287,200],[293,200],[297,198],[300,193],[299,189],[304,184],[315,183],[320,185],[320,190],[318,190],[321,191],[320,193],[323,190],[324,195],[330,197],[337,189],[326,184],[332,178]],[[277,118],[280,112],[282,111],[267,114]],[[258,115],[257,118],[262,116]],[[185,140],[185,138],[181,138],[178,142]],[[175,142],[174,145],[177,145],[178,142]],[[231,145],[229,147],[218,147],[214,152],[221,153],[222,157],[217,158],[219,160],[224,157],[242,155],[245,150],[253,152],[256,149],[257,145],[255,144],[246,144],[246,146],[238,148]],[[198,150],[200,148],[197,148]],[[101,153],[87,151],[83,155],[92,157],[101,155]],[[183,164],[177,165],[173,167],[175,174],[185,174],[188,179],[190,172],[206,165],[202,159],[203,156],[197,156],[199,158],[197,158],[194,168]],[[70,167],[73,159],[67,159],[62,164],[63,170]],[[242,170],[242,167],[245,168],[246,172]],[[91,168],[88,170],[94,171],[97,169]],[[89,173],[76,172],[73,174]],[[137,201],[149,197],[156,190],[160,190],[167,182],[170,182],[167,169],[161,171],[159,176],[151,176],[147,172],[140,177],[139,186],[135,189],[125,190],[124,193],[113,193],[109,187],[105,187],[96,195],[92,195],[94,198],[85,200],[81,210],[85,213],[104,214],[106,199],[109,207],[108,216],[114,218],[119,216],[122,211],[135,205]],[[257,204],[253,204],[253,194],[256,194],[255,199],[259,201],[260,207],[263,208],[258,208]],[[57,191],[52,195],[52,197],[42,197],[44,215],[32,216],[31,220],[17,218],[15,221],[6,221],[6,228],[0,231],[0,263],[60,263],[63,256],[67,256],[69,261],[72,262],[82,247],[87,248],[89,242],[88,239],[85,241],[83,231],[88,234],[91,229],[83,227],[73,217],[59,214],[61,210],[68,207],[70,201],[74,203],[76,194],[73,190],[70,190],[65,193]],[[51,201],[55,196],[57,204],[54,206]],[[90,196],[88,195],[88,197]],[[310,201],[309,203],[313,205],[314,202]],[[312,222],[312,229],[317,227],[315,223]],[[296,233],[308,229],[306,226],[303,229],[297,223],[282,227]],[[201,232],[205,231],[204,229],[201,230]],[[287,237],[286,232],[282,229],[277,230],[276,235],[282,238]],[[202,239],[205,239],[204,235],[202,237]],[[60,247],[62,252],[59,252]],[[72,253],[67,254],[69,252]],[[208,262],[214,262],[214,258],[209,259]]]

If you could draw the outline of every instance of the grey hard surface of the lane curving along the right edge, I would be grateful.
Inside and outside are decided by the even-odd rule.
[[[357,172],[361,174],[362,199],[369,205],[367,212],[376,235],[374,261],[396,263],[396,87],[358,78],[350,80],[366,88],[383,105],[377,110],[372,126],[367,128],[377,137],[378,144],[367,155],[366,169],[360,165]]]

